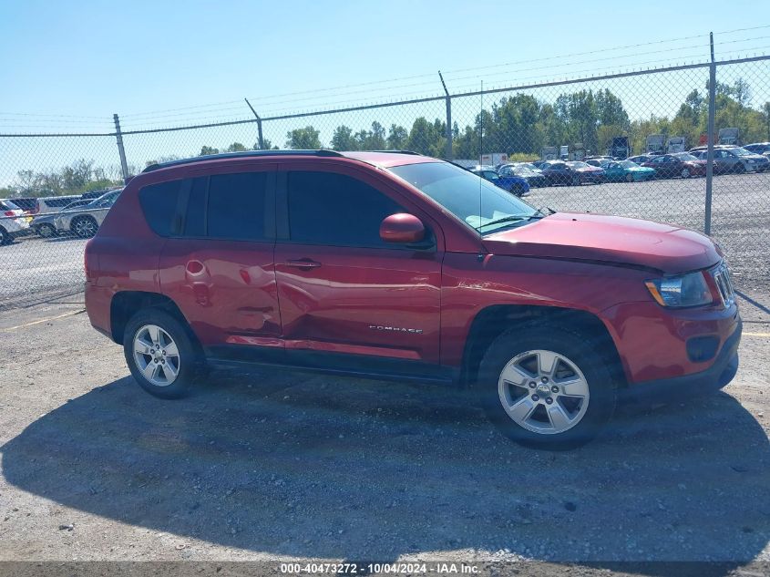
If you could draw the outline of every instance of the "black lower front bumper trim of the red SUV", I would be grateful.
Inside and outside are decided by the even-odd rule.
[[[714,364],[700,373],[636,383],[618,391],[620,403],[671,402],[714,392],[727,386],[738,372],[738,345],[743,323],[738,322],[733,335],[724,342]]]

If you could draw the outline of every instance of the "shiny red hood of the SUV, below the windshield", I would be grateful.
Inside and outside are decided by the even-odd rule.
[[[558,212],[518,228],[491,234],[493,254],[629,264],[683,273],[720,260],[714,242],[670,224],[582,212]]]

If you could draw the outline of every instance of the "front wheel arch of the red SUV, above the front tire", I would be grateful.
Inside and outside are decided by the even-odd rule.
[[[569,326],[578,330],[591,340],[595,350],[601,351],[612,377],[617,380],[618,387],[628,386],[618,348],[599,316],[580,309],[537,304],[494,304],[477,313],[467,334],[460,385],[472,386],[476,382],[481,359],[498,335],[514,324],[526,326],[536,322]]]

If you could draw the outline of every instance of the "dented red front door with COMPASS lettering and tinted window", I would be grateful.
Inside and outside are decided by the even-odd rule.
[[[443,237],[436,223],[348,165],[286,165],[277,181],[275,270],[287,350],[437,364]],[[428,241],[383,242],[380,223],[398,212],[420,218]]]

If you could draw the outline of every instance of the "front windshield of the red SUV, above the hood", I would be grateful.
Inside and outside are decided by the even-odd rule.
[[[538,211],[510,192],[454,164],[418,162],[395,166],[390,171],[480,234],[529,222],[529,217],[538,215]],[[498,222],[501,219],[506,220]]]

